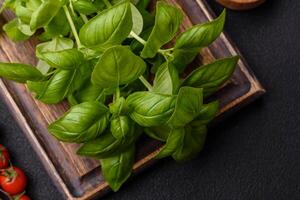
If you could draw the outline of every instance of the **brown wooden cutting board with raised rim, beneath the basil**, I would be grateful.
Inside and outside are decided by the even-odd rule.
[[[211,11],[202,0],[166,0],[181,7],[185,13],[181,30],[195,23],[213,19]],[[0,25],[13,18],[5,12],[0,18]],[[32,39],[24,43],[13,43],[7,36],[0,34],[0,60],[3,62],[22,62],[36,64],[35,45]],[[209,63],[216,58],[240,53],[225,34],[209,48],[201,50],[197,63]],[[265,90],[241,58],[232,79],[212,98],[221,100],[219,119],[238,110],[261,96]],[[47,125],[61,116],[67,109],[66,102],[58,105],[45,105],[36,101],[22,84],[0,79],[0,94],[10,108],[13,116],[29,139],[53,182],[66,199],[86,200],[101,196],[110,191],[103,180],[98,162],[75,154],[77,144],[66,144],[54,139],[47,131]],[[154,156],[161,143],[149,138],[138,142],[138,152],[134,171],[140,172],[155,162]]]

